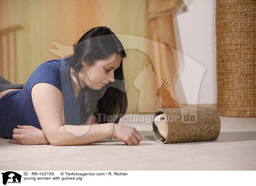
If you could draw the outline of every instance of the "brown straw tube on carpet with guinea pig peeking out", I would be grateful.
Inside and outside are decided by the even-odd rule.
[[[162,144],[214,141],[221,130],[219,114],[213,107],[159,109],[154,113],[154,118],[153,134],[157,142]]]

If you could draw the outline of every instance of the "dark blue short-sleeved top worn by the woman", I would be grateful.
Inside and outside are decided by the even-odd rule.
[[[44,62],[29,76],[22,90],[14,90],[0,99],[0,137],[13,139],[13,129],[17,125],[32,125],[42,129],[32,103],[32,87],[45,82],[57,87],[64,101],[65,124],[80,125],[85,122],[81,113],[82,94],[76,100],[71,77],[65,58]]]

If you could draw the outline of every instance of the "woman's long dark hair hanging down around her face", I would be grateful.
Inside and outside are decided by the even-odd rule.
[[[68,61],[69,74],[76,77],[80,88],[79,71],[83,67],[82,60],[90,66],[95,61],[108,58],[112,54],[118,54],[121,58],[126,57],[122,43],[111,29],[106,26],[97,26],[90,29],[79,39],[77,44],[73,44],[73,50],[73,55],[68,56],[65,60]],[[92,90],[88,86],[81,89],[83,100],[81,112],[86,118],[84,122],[87,121],[89,116],[94,115],[97,118],[96,121],[98,121],[98,116],[101,116],[98,121],[99,124],[107,122],[118,123],[119,119],[126,113],[128,102],[122,61],[120,67],[114,71],[114,82],[109,82],[101,90]],[[74,70],[73,73],[70,71],[71,67]],[[107,117],[106,120],[106,117],[102,117],[104,115],[114,117]]]

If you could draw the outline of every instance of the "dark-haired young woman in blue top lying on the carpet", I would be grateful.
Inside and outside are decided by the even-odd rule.
[[[127,110],[119,39],[99,26],[73,50],[41,64],[23,89],[10,89],[2,78],[0,136],[23,145],[84,145],[107,137],[137,145],[142,137],[134,127],[116,125]]]

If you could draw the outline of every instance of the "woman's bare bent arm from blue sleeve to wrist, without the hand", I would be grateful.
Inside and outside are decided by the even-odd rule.
[[[85,145],[110,137],[112,134],[113,123],[64,125],[63,96],[52,84],[35,84],[31,95],[40,125],[51,145]]]

